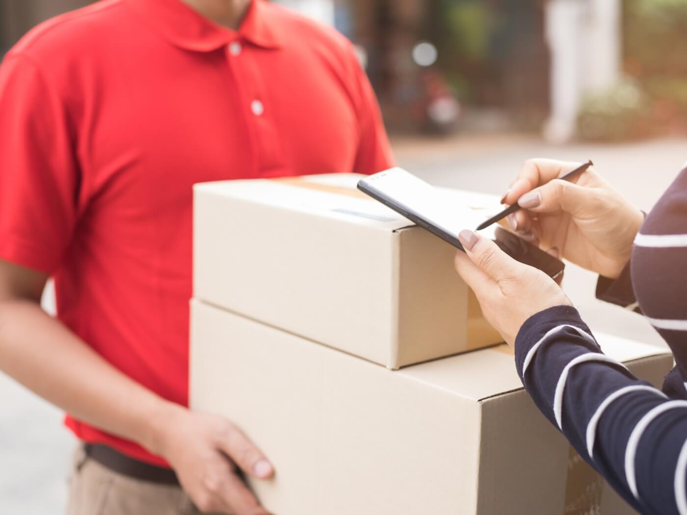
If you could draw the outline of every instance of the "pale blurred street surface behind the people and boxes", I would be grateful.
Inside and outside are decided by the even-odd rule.
[[[398,164],[430,183],[502,194],[528,157],[594,160],[602,174],[635,205],[648,210],[687,159],[687,141],[551,146],[530,136],[457,135],[394,140]],[[629,180],[631,179],[631,180]],[[662,345],[644,320],[594,299],[596,277],[568,266],[564,287],[593,330]],[[0,374],[0,499],[2,512],[60,513],[74,439],[62,414]]]

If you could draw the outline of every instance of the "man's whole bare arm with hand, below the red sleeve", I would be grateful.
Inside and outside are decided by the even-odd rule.
[[[266,514],[234,466],[271,476],[260,451],[227,420],[192,413],[131,380],[46,314],[47,277],[0,260],[0,369],[78,419],[165,457],[201,510]]]

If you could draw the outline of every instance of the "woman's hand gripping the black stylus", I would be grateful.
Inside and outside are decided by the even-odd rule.
[[[502,199],[523,207],[508,217],[508,223],[523,238],[545,249],[559,249],[561,258],[616,279],[630,260],[644,214],[613,190],[594,167],[575,183],[558,179],[580,164],[526,161]]]

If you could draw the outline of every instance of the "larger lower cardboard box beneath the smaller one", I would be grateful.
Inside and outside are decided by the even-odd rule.
[[[597,338],[654,384],[673,366]],[[251,481],[275,515],[631,513],[594,490],[505,345],[390,371],[192,301],[190,380],[193,409],[229,417],[275,464]]]

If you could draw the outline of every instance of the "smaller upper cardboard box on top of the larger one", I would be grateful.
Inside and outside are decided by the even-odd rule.
[[[390,369],[501,337],[455,249],[355,190],[361,176],[194,187],[194,297]],[[497,198],[445,190],[466,227]]]

